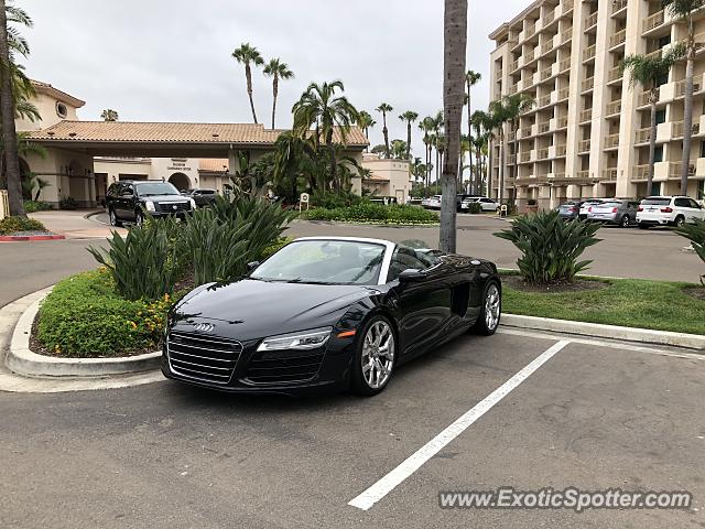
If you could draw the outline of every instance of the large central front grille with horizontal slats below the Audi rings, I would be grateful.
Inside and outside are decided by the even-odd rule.
[[[166,353],[174,373],[207,382],[228,384],[242,344],[199,334],[170,333]]]

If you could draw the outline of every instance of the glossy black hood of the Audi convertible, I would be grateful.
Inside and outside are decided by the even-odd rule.
[[[171,328],[193,332],[215,325],[214,335],[248,341],[334,325],[356,301],[378,291],[366,285],[284,283],[242,279],[200,287],[172,313]]]

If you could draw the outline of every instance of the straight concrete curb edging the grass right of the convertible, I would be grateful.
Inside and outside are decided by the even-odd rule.
[[[552,320],[549,317],[522,316],[507,313],[502,314],[501,323],[508,327],[553,331],[581,336],[598,336],[601,338],[622,339],[625,342],[671,345],[674,347],[686,347],[688,349],[705,349],[705,336],[697,334],[671,333],[649,328],[571,322],[568,320]]]

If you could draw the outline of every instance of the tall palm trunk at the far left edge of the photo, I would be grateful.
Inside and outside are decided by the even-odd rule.
[[[26,217],[22,202],[22,176],[20,155],[18,154],[18,134],[14,128],[14,94],[12,93],[12,72],[8,48],[8,19],[6,2],[0,0],[0,110],[2,116],[2,141],[4,144],[6,177],[10,215]]]

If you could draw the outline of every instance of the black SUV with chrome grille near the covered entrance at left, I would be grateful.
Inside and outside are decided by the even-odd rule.
[[[145,180],[111,184],[106,195],[106,207],[112,226],[122,226],[123,222],[141,226],[144,212],[154,217],[176,215],[183,218],[196,208],[196,204],[169,182]]]

